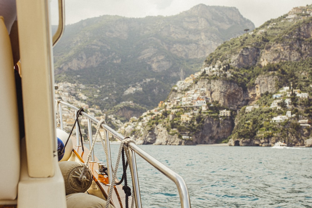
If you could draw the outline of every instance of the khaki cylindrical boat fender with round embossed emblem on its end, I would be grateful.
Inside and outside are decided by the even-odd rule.
[[[83,193],[88,190],[92,184],[92,172],[90,169],[85,171],[84,176],[79,176],[85,168],[84,163],[75,161],[62,161],[59,166],[65,181],[66,195],[72,193]]]

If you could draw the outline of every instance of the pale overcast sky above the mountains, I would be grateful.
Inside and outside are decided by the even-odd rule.
[[[259,27],[267,20],[289,12],[293,7],[312,4],[312,0],[65,0],[66,25],[101,15],[123,17],[171,16],[203,3],[236,7],[243,17]],[[51,0],[52,24],[56,25],[57,0]]]

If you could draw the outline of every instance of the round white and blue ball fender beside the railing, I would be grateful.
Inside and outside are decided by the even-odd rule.
[[[71,157],[71,152],[73,151],[73,142],[71,141],[71,138],[69,138],[66,144],[69,134],[59,128],[56,129],[56,136],[57,136],[58,161],[59,162],[67,161]],[[66,144],[65,150],[61,153],[65,144]]]

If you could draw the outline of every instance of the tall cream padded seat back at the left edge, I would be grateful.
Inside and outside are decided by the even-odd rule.
[[[20,135],[11,43],[2,16],[0,74],[0,200],[14,200],[20,177]]]

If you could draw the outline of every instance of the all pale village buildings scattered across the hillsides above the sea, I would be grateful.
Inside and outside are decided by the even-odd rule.
[[[115,126],[119,127],[120,133],[125,133],[131,131],[131,129],[137,129],[137,130],[143,130],[143,127],[151,120],[154,119],[155,116],[162,115],[164,111],[170,112],[169,114],[169,120],[174,119],[174,114],[178,111],[181,111],[181,109],[192,109],[189,112],[184,112],[180,120],[181,122],[190,122],[192,118],[199,114],[201,111],[207,112],[209,109],[209,106],[207,103],[211,103],[213,100],[211,97],[207,95],[207,88],[199,88],[197,85],[194,85],[193,88],[190,90],[187,90],[194,82],[194,80],[201,76],[202,73],[206,73],[209,76],[217,75],[220,76],[223,73],[226,73],[227,76],[231,76],[231,73],[228,71],[224,71],[222,69],[216,69],[212,67],[206,67],[202,69],[201,71],[195,73],[194,75],[190,75],[185,80],[178,81],[177,84],[173,87],[173,90],[176,90],[178,92],[183,92],[184,96],[182,97],[174,97],[172,100],[168,101],[160,101],[158,104],[158,107],[148,110],[147,112],[143,113],[141,116],[141,119],[138,119],[136,117],[133,117],[130,119],[130,122],[122,123],[119,119],[115,119],[114,115],[108,115],[107,119],[110,119]],[[65,102],[74,104],[76,106],[80,106],[84,109],[87,109],[87,113],[91,116],[95,117],[96,119],[105,119],[106,115],[104,112],[102,112],[98,108],[89,108],[88,104],[86,104],[84,101],[88,99],[87,96],[82,94],[80,91],[81,89],[85,88],[84,85],[77,85],[77,84],[71,84],[71,83],[59,83],[59,88],[56,90],[56,99],[61,99]],[[134,90],[135,91],[135,90]],[[133,93],[134,93],[133,91]],[[289,87],[284,87],[283,89],[279,90],[279,93],[273,94],[273,98],[275,100],[272,102],[270,108],[276,108],[280,109],[281,106],[279,105],[280,102],[284,101],[285,106],[289,107],[291,104],[290,96],[292,91],[296,94],[296,97],[298,98],[308,98],[309,94],[300,92],[299,89],[293,89],[290,90]],[[131,93],[129,90],[125,92],[126,94]],[[76,95],[73,96],[73,95]],[[96,96],[96,95],[94,95]],[[79,100],[77,100],[79,99]],[[128,104],[132,104],[131,101],[126,102]],[[211,104],[213,105],[213,104]],[[251,105],[246,106],[245,112],[251,112],[252,110],[259,108],[259,105]],[[68,109],[64,108],[62,110],[63,113],[63,126],[66,131],[70,131],[76,117],[76,112],[69,112]],[[231,111],[227,109],[223,109],[219,111],[219,116],[231,116]],[[279,115],[276,117],[273,117],[271,119],[271,122],[284,122],[285,120],[294,117],[294,114],[291,114],[290,111],[287,111],[286,115]],[[299,120],[300,126],[310,126],[308,124],[308,120]],[[81,119],[80,125],[86,126],[87,125],[87,119]],[[83,130],[84,131],[84,130]]]

